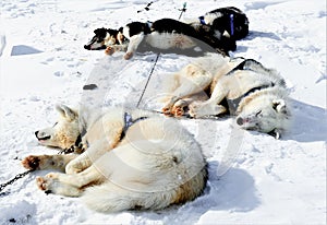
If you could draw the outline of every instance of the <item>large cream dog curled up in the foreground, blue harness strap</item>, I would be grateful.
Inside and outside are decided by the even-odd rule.
[[[82,154],[29,155],[27,169],[46,193],[81,197],[93,210],[159,210],[192,201],[207,180],[199,144],[178,121],[141,109],[78,111],[57,106],[60,119],[35,132],[46,146],[83,147]],[[82,138],[81,138],[82,137]],[[81,143],[75,143],[81,141]]]

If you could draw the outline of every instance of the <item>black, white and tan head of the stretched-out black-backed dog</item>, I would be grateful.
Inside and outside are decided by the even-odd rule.
[[[84,48],[87,50],[100,50],[106,49],[108,45],[117,44],[117,34],[118,31],[110,28],[97,28],[94,31],[95,36],[84,45]]]

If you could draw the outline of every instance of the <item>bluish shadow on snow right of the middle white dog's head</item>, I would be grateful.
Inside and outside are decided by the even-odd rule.
[[[298,142],[327,141],[327,110],[292,100],[292,126],[282,138]]]

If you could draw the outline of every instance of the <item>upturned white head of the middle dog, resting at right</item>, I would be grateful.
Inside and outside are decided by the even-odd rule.
[[[290,117],[286,99],[258,96],[243,105],[238,114],[237,123],[243,129],[269,133],[278,139],[289,127]]]

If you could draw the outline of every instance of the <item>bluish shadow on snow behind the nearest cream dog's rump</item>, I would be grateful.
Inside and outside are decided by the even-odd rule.
[[[245,170],[230,168],[218,176],[218,162],[209,162],[209,177],[204,193],[192,202],[157,212],[138,212],[136,216],[173,224],[193,224],[208,211],[249,212],[261,204],[254,178]]]

